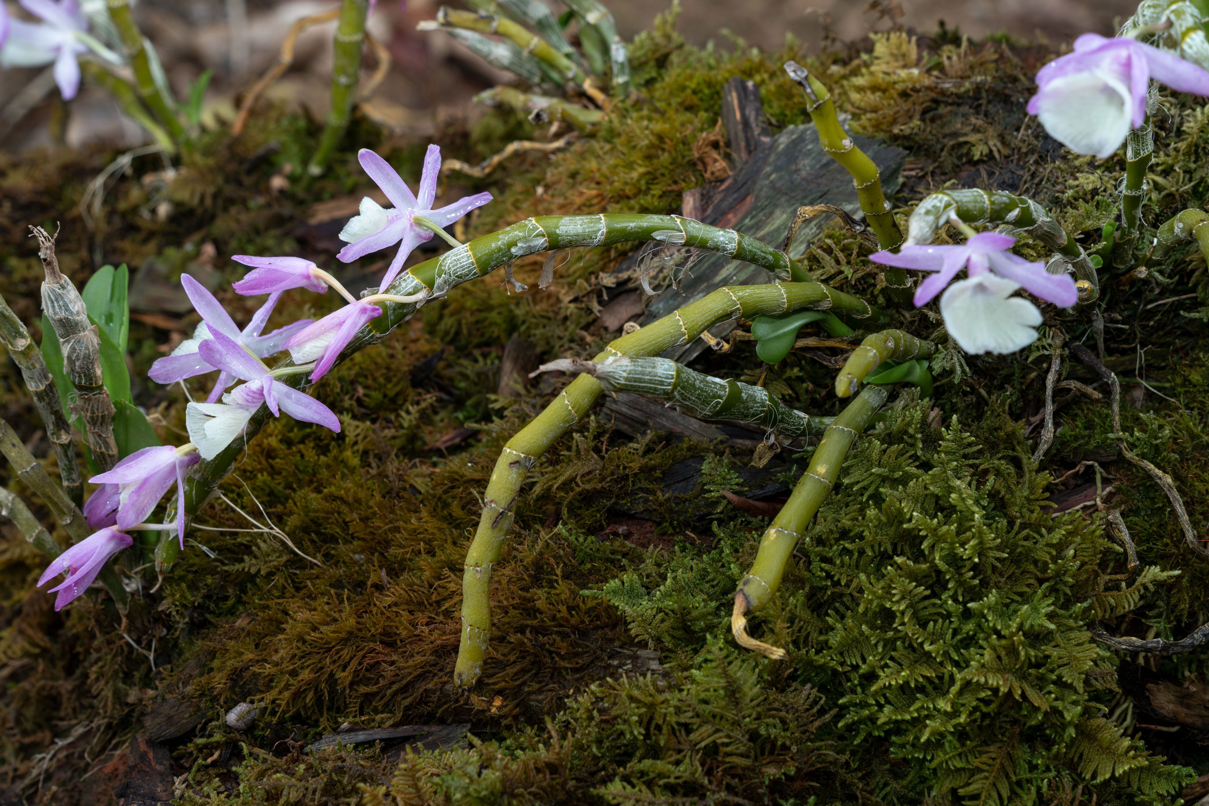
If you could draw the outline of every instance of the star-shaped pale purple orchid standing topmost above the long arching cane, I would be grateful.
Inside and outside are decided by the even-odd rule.
[[[348,245],[336,257],[348,263],[372,251],[399,244],[399,251],[382,278],[380,288],[383,290],[399,274],[411,250],[433,237],[432,230],[420,226],[413,219],[421,218],[444,228],[491,201],[491,193],[475,193],[440,209],[432,209],[436,197],[436,180],[441,173],[441,150],[435,145],[428,146],[424,156],[418,197],[411,195],[411,189],[398,172],[378,155],[361,149],[357,158],[394,207],[383,208],[368,196],[363,198],[360,215],[351,219],[340,232],[340,239],[348,242]]]

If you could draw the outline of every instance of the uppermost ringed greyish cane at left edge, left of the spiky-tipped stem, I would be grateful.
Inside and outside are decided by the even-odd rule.
[[[83,506],[83,481],[80,479],[80,465],[76,464],[75,446],[71,443],[71,425],[63,413],[63,399],[59,398],[54,378],[46,367],[41,350],[34,344],[33,337],[25,330],[24,323],[12,312],[8,303],[0,296],[0,342],[8,355],[21,369],[21,377],[34,398],[34,407],[46,425],[46,435],[54,447],[59,462],[59,476],[68,498],[76,506]]]

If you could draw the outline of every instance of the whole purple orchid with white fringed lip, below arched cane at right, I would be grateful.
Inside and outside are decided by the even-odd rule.
[[[1026,291],[1069,308],[1078,301],[1069,274],[1051,274],[1045,263],[1030,262],[1007,249],[1016,238],[980,232],[955,247],[903,247],[897,254],[879,251],[869,260],[885,266],[936,272],[915,290],[915,306],[941,297],[941,315],[954,341],[965,352],[1014,353],[1037,338],[1041,312],[1028,300],[1011,295]],[[953,283],[962,268],[967,279]],[[950,285],[951,283],[951,285]]]

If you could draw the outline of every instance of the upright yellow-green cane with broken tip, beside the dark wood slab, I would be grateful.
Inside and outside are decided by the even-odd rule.
[[[852,174],[852,184],[856,186],[861,211],[864,213],[869,230],[878,237],[878,243],[883,249],[898,249],[903,243],[903,233],[898,228],[895,214],[890,211],[890,202],[886,201],[886,195],[881,190],[881,170],[844,131],[835,115],[835,104],[832,103],[827,87],[797,62],[786,62],[785,71],[806,93],[809,99],[806,111],[810,112],[810,120],[815,122],[815,131],[818,133],[818,141],[822,144],[823,151]],[[907,269],[887,266],[883,269],[883,277],[895,302],[909,305],[912,292]]]

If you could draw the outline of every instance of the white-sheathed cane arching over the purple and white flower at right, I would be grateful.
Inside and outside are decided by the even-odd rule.
[[[1074,238],[1062,228],[1049,213],[1025,196],[1007,191],[948,190],[932,193],[915,208],[907,222],[908,247],[932,243],[937,230],[956,215],[965,224],[979,226],[1007,225],[1007,234],[1024,233],[1058,253],[1075,269],[1075,285],[1082,303],[1094,302],[1100,295],[1100,280],[1091,259]]]

